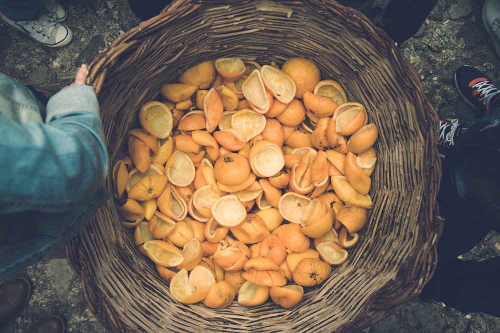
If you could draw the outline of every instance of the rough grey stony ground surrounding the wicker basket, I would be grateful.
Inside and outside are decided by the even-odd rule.
[[[100,49],[139,23],[126,0],[60,2],[68,9],[67,25],[74,33],[73,41],[61,49],[38,46],[0,24],[0,71],[47,95],[70,83],[80,63],[89,63]],[[403,56],[420,74],[424,91],[440,118],[466,121],[476,117],[452,84],[458,66],[476,66],[488,73],[493,82],[500,82],[500,57],[495,54],[481,20],[483,2],[439,0],[415,37],[399,45]],[[500,237],[492,232],[466,256],[481,260],[499,253]],[[50,314],[64,317],[67,332],[105,332],[88,310],[80,282],[65,260],[45,259],[19,275],[32,281],[33,296],[1,333],[24,332]],[[415,299],[365,332],[500,332],[500,318],[463,314],[440,303]]]

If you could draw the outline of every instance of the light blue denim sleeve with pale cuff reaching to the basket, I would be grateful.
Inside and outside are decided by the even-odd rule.
[[[81,205],[107,170],[92,87],[73,85],[53,95],[45,123],[0,115],[0,213],[61,212]]]

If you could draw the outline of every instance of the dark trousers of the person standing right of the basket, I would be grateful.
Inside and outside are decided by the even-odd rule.
[[[483,261],[457,258],[491,230],[500,231],[500,115],[463,126],[446,154],[438,194],[444,229],[437,244],[437,268],[423,290],[461,312],[500,317],[500,257]]]

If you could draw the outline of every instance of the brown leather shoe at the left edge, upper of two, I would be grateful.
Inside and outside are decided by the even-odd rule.
[[[0,287],[0,329],[14,319],[31,297],[31,284],[18,278]]]

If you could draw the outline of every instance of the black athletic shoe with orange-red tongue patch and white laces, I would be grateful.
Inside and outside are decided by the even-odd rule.
[[[500,99],[500,90],[479,69],[463,65],[455,71],[455,86],[460,96],[481,115],[491,112]]]

